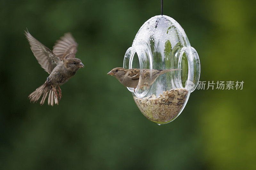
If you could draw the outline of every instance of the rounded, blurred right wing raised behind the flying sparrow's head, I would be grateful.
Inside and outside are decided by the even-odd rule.
[[[64,34],[53,46],[53,53],[60,59],[75,58],[77,43],[71,33]]]

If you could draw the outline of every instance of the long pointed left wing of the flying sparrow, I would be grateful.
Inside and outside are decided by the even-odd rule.
[[[36,40],[36,38],[34,38],[28,31],[25,31],[25,35],[30,44],[30,49],[34,53],[38,63],[50,74],[53,68],[57,66],[57,63],[60,62],[60,58],[53,54],[52,50]]]

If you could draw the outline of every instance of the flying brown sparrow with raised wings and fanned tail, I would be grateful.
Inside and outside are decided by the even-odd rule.
[[[52,106],[54,103],[59,104],[61,98],[60,85],[74,76],[79,68],[84,67],[81,60],[75,58],[77,43],[70,33],[66,33],[56,42],[53,50],[50,50],[37,41],[28,31],[25,31],[25,35],[38,63],[50,74],[44,84],[32,92],[28,99],[35,103],[43,95],[40,101],[42,105],[49,94],[48,104]]]

